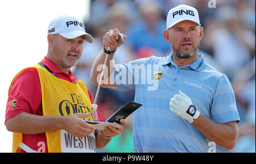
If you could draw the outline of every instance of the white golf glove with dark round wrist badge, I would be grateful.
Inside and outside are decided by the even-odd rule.
[[[170,110],[177,116],[188,120],[189,123],[192,123],[193,119],[197,119],[200,115],[200,112],[193,106],[191,99],[181,90],[179,90],[179,94],[175,94],[171,98]]]

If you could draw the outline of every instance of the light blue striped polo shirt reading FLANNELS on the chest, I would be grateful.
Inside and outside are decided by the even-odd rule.
[[[228,77],[205,63],[203,55],[183,67],[177,67],[172,54],[115,64],[112,79],[118,90],[135,89],[134,101],[142,103],[133,117],[137,152],[208,152],[204,135],[170,110],[178,90],[214,122],[240,121]]]

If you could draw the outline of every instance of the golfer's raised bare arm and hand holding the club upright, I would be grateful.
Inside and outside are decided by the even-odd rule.
[[[107,49],[110,47],[110,51],[116,50],[121,44],[118,44],[117,39],[118,39],[118,29],[110,30],[105,34],[103,37],[103,44],[105,45],[105,48]],[[127,36],[123,36],[124,39],[127,38]],[[98,85],[98,82],[100,81],[100,73],[102,71],[102,66],[105,62],[106,58],[106,53],[101,50],[100,54],[98,54],[98,57],[95,59],[93,62],[92,66],[92,71],[90,74],[90,80],[92,81],[93,84]],[[112,81],[112,78],[110,77],[110,73],[113,71],[114,68],[114,54],[109,54],[108,56],[108,62],[106,63],[106,70],[105,70],[105,75],[103,76],[103,83],[102,87],[116,87]],[[112,61],[112,62],[110,62]],[[110,81],[109,81],[110,80]]]

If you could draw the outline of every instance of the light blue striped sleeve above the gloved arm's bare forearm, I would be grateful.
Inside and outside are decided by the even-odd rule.
[[[212,102],[211,115],[212,120],[217,123],[226,123],[235,120],[240,122],[234,91],[226,75],[222,75],[218,80]]]

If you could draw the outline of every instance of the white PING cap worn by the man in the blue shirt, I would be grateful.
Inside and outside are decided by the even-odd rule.
[[[199,14],[196,8],[188,5],[179,5],[172,8],[167,15],[166,26],[167,29],[173,27],[175,24],[183,20],[191,20],[200,24]]]

